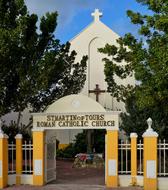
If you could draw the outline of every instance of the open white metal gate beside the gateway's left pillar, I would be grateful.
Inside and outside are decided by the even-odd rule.
[[[49,183],[56,180],[56,138],[46,135],[45,143],[45,181]]]

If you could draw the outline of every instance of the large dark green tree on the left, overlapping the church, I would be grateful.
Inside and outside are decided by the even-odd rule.
[[[40,20],[24,0],[0,0],[0,116],[30,106],[43,111],[57,98],[78,93],[87,57],[75,62],[70,44],[55,39],[57,12]]]

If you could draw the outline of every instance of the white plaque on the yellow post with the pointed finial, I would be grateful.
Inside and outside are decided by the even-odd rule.
[[[147,160],[147,178],[156,178],[156,161],[155,160]]]

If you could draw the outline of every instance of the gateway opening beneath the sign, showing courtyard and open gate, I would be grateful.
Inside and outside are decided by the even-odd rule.
[[[105,130],[91,131],[92,135],[95,134],[99,139],[96,142],[93,136],[90,153],[87,153],[86,144],[89,130],[84,130],[77,135],[76,141],[64,149],[57,149],[57,154],[53,155],[55,152],[53,140],[56,139],[56,131],[46,131],[49,137],[47,139],[51,139],[50,144],[46,143],[46,147],[49,148],[46,152],[46,164],[50,166],[46,168],[46,183],[105,185]],[[72,132],[73,130],[70,131]]]

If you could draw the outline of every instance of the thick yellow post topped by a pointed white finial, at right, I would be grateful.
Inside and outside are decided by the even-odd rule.
[[[157,137],[151,128],[152,119],[147,120],[148,129],[144,138],[144,190],[157,190]]]

